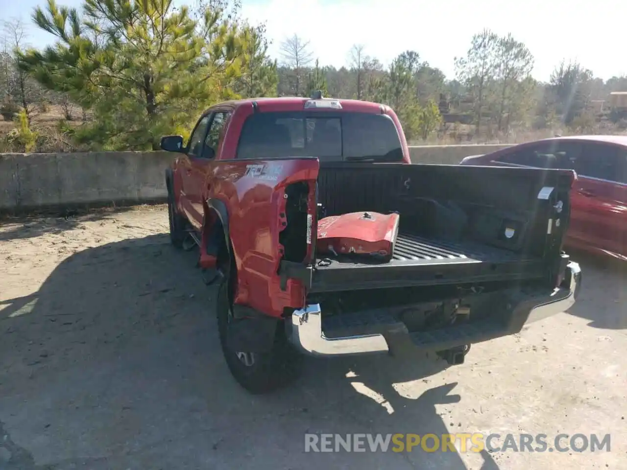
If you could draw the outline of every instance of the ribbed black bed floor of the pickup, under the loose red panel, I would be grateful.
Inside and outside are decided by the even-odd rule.
[[[399,233],[388,263],[319,257],[312,292],[540,278],[541,258],[465,241],[434,241]]]

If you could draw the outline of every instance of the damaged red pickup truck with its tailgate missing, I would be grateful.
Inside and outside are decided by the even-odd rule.
[[[562,251],[571,170],[412,165],[391,108],[357,100],[256,98],[199,118],[166,170],[171,241],[199,246],[218,286],[219,339],[253,393],[310,355],[434,352],[566,310],[581,270]],[[318,221],[399,216],[384,260],[319,253]]]

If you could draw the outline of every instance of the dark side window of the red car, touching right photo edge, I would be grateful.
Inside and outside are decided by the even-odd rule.
[[[626,152],[616,145],[586,144],[576,160],[577,174],[609,181],[625,181]]]

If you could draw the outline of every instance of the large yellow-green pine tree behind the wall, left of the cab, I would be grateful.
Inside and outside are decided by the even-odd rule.
[[[204,108],[239,97],[250,31],[214,4],[194,19],[172,0],[84,0],[83,16],[48,0],[33,20],[57,41],[23,53],[20,66],[92,110],[77,133],[88,142],[155,149],[162,135],[189,132]]]

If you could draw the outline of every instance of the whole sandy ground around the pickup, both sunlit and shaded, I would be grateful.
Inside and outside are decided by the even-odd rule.
[[[307,359],[252,396],[162,206],[0,227],[0,469],[627,469],[624,269],[466,363]],[[306,432],[611,435],[597,452],[305,453]],[[562,441],[568,445],[568,439]]]

